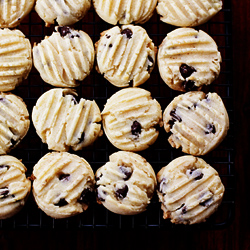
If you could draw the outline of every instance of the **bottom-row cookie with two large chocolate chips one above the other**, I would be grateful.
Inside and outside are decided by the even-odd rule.
[[[119,151],[96,172],[97,201],[123,215],[146,210],[156,188],[151,165],[140,155]]]

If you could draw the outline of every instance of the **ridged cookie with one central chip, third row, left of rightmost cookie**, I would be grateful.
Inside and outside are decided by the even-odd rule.
[[[102,111],[103,128],[109,141],[117,148],[141,151],[152,145],[162,126],[160,104],[149,91],[126,88],[108,99]]]

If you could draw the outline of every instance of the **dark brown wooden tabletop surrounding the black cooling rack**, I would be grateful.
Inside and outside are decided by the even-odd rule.
[[[227,0],[226,0],[227,1]],[[232,0],[235,216],[220,230],[1,230],[5,249],[250,249],[250,1]]]

